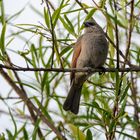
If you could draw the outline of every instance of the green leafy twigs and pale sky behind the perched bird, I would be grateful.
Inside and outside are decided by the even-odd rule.
[[[1,0],[0,4],[0,64],[4,66],[69,68],[72,46],[83,33],[83,22],[94,17],[113,42],[109,43],[105,67],[118,65],[114,47],[123,53],[119,57],[122,69],[139,67],[139,1],[30,0],[11,3],[14,10],[11,6],[9,13],[8,1]],[[13,86],[9,86],[12,82],[8,83],[4,72]],[[94,74],[83,86],[78,115],[62,108],[69,90],[69,73],[1,68],[0,78],[1,139],[58,139],[55,129],[76,140],[140,138],[139,73]],[[55,128],[48,127],[22,95]]]

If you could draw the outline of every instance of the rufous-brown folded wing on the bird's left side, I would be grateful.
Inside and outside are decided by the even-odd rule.
[[[74,52],[73,52],[73,57],[72,57],[72,63],[71,63],[71,68],[76,68],[76,63],[78,60],[78,57],[80,55],[81,52],[81,39],[83,36],[79,37],[79,39],[77,40],[77,42],[74,45]],[[75,73],[71,72],[70,74],[70,81],[72,82],[72,80],[75,77]]]

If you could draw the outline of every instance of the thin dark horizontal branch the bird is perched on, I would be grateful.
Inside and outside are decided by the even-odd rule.
[[[0,69],[9,69],[9,70],[15,70],[15,71],[47,71],[47,72],[139,72],[140,71],[140,67],[139,66],[133,66],[130,68],[105,68],[105,69],[101,69],[101,68],[66,68],[66,69],[62,69],[62,68],[25,68],[25,67],[15,67],[15,66],[6,66],[3,64],[0,64]]]

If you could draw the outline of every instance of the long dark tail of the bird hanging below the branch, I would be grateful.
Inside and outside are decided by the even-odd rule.
[[[80,97],[81,97],[82,86],[78,86],[72,82],[68,96],[64,102],[63,109],[66,111],[71,111],[77,114],[79,111]]]

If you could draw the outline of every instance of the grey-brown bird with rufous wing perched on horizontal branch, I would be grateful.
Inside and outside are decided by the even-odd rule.
[[[90,19],[84,22],[84,33],[74,45],[71,68],[104,68],[108,54],[108,42],[103,29]],[[78,114],[82,86],[92,72],[71,72],[70,90],[63,104],[65,111]]]

